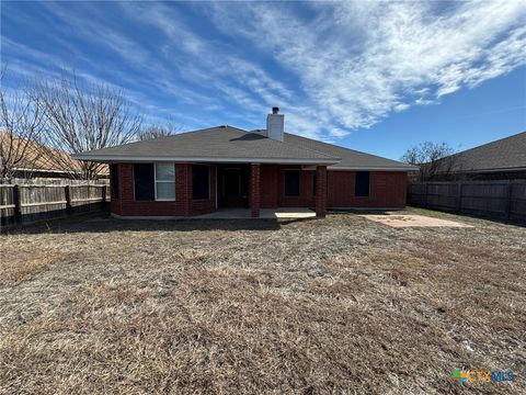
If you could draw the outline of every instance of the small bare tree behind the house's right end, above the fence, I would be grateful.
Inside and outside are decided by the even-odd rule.
[[[437,176],[447,177],[455,165],[455,149],[447,143],[425,142],[409,148],[401,160],[419,166],[419,181],[427,181]]]

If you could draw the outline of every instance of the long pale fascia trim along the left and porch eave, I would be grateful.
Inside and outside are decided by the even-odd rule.
[[[103,161],[103,162],[213,162],[213,163],[288,163],[288,165],[335,165],[341,159],[279,159],[279,158],[183,158],[183,157],[138,157],[138,156],[118,156],[108,157],[103,155],[72,155],[77,160]]]

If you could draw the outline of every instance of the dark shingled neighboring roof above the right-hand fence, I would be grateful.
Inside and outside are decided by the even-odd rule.
[[[450,172],[514,171],[526,169],[526,132],[441,159]]]

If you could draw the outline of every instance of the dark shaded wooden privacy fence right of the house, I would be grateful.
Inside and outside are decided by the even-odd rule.
[[[408,204],[501,219],[526,221],[526,180],[418,182]]]

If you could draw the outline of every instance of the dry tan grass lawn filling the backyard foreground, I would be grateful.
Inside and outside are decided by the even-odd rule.
[[[425,214],[474,227],[333,214],[2,235],[0,393],[524,391],[526,228]]]

